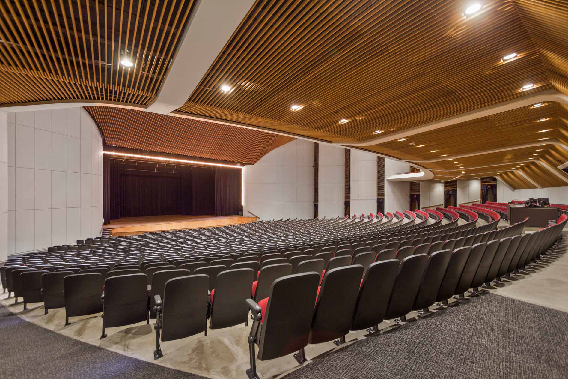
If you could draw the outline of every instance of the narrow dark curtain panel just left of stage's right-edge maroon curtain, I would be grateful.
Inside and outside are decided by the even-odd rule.
[[[215,214],[215,171],[210,168],[192,169],[191,214]]]

